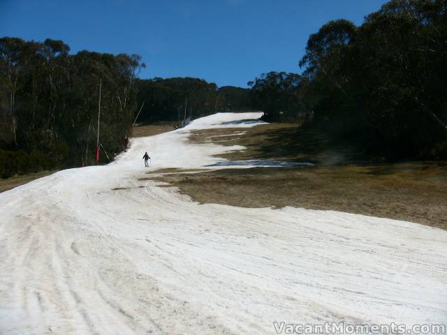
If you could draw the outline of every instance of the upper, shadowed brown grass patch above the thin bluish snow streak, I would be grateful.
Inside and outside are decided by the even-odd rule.
[[[362,145],[339,140],[299,124],[260,124],[251,128],[219,128],[193,131],[189,140],[196,143],[233,146],[246,149],[219,155],[230,161],[249,159],[312,162],[318,165],[379,163],[383,158],[367,155]]]

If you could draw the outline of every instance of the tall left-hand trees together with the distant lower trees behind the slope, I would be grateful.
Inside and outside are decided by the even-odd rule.
[[[99,163],[124,149],[141,106],[138,122],[178,121],[248,101],[248,89],[196,78],[140,80],[135,54],[69,51],[61,40],[0,38],[0,177],[95,163],[100,81]]]

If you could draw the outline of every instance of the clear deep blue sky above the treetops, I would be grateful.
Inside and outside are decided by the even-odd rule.
[[[246,87],[270,70],[299,72],[309,34],[361,24],[384,0],[0,0],[0,36],[64,40],[140,54],[140,77],[200,77]]]

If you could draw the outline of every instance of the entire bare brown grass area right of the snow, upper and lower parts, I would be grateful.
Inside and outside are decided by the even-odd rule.
[[[219,136],[240,131],[247,133]],[[447,229],[447,163],[377,163],[381,158],[293,124],[196,131],[190,140],[247,147],[224,155],[230,160],[317,164],[182,174],[170,170],[170,174],[154,177],[179,187],[198,202],[346,211]]]

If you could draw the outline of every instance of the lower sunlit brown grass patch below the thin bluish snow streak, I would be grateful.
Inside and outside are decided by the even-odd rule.
[[[225,169],[155,178],[202,203],[303,207],[395,218],[447,229],[447,166]]]

